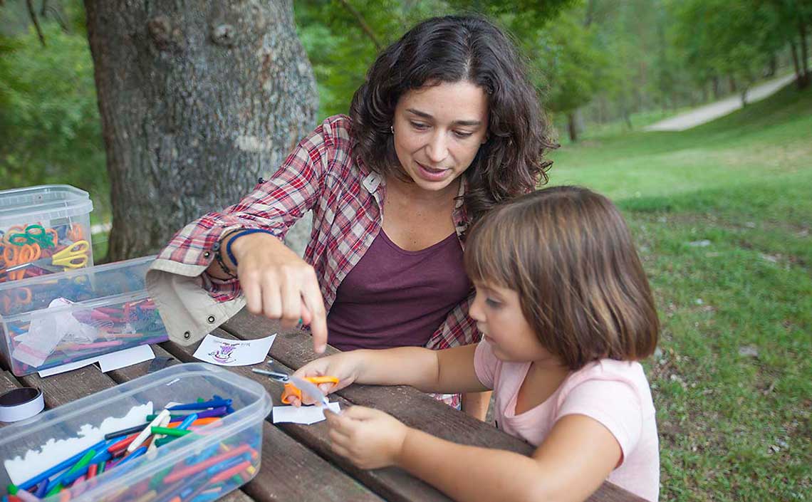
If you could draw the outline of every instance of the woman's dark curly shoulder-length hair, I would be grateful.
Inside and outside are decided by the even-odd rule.
[[[488,140],[465,171],[471,223],[492,206],[547,181],[546,149],[558,145],[516,47],[476,16],[427,19],[387,47],[352,97],[353,154],[380,175],[403,175],[390,133],[400,97],[425,84],[469,81],[488,98]]]

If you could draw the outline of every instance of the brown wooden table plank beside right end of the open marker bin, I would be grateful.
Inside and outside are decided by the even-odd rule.
[[[156,357],[173,357],[177,361],[171,353],[159,345],[153,345],[153,350]],[[147,374],[148,370],[149,361],[145,361],[110,371],[109,375],[116,382],[123,383]],[[260,470],[241,490],[259,502],[282,500],[380,502],[378,496],[269,422],[263,422]]]

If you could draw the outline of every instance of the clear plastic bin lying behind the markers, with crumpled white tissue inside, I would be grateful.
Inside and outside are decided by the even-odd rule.
[[[22,376],[167,340],[145,276],[155,257],[0,283],[2,355]]]

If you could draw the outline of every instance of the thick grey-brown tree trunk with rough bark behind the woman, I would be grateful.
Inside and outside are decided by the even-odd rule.
[[[313,128],[291,0],[84,0],[110,175],[110,260],[229,206]]]

